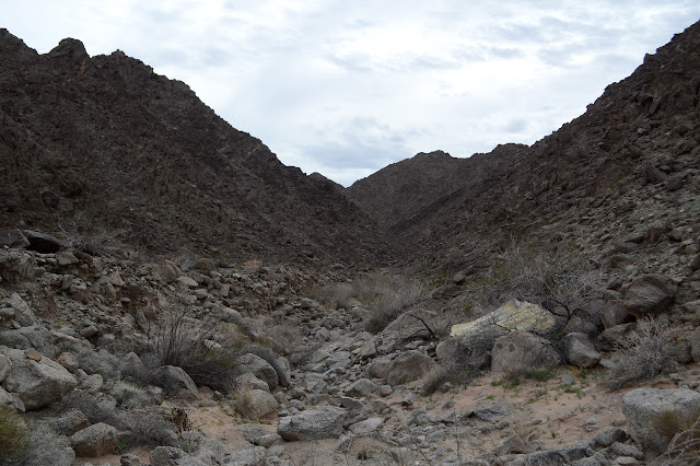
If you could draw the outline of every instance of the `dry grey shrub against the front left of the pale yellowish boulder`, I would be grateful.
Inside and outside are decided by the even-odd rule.
[[[446,357],[425,377],[421,391],[433,394],[446,382],[468,384],[488,370],[491,363],[490,351],[497,336],[481,336],[470,340],[455,340]]]

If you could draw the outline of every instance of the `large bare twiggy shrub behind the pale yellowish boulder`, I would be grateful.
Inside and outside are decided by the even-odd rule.
[[[573,248],[541,252],[513,242],[468,291],[483,313],[517,299],[569,318],[600,282],[600,270]]]

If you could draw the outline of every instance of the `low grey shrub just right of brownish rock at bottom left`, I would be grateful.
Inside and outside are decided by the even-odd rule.
[[[133,409],[124,413],[124,424],[131,432],[129,446],[176,446],[177,434],[162,409]]]

